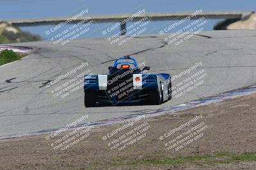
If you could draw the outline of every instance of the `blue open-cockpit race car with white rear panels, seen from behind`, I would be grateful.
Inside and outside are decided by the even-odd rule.
[[[109,66],[108,74],[84,75],[84,105],[161,104],[172,99],[170,74],[150,74],[150,67],[141,66],[124,56]]]

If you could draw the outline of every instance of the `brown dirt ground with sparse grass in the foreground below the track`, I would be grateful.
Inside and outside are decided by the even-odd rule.
[[[63,150],[49,134],[3,139],[0,169],[256,169],[255,101],[252,94],[80,131]],[[58,139],[67,144],[68,133]]]

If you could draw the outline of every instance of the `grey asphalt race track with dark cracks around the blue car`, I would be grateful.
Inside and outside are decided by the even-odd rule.
[[[131,115],[186,103],[256,83],[256,31],[200,32],[184,43],[167,45],[164,36],[150,35],[131,39],[122,46],[110,45],[106,38],[72,41],[56,46],[51,41],[19,43],[36,49],[17,62],[0,66],[0,137],[56,129],[70,124],[84,114],[89,122]],[[150,66],[150,73],[185,71],[202,61],[202,66],[173,81],[173,86],[193,73],[205,70],[204,82],[188,93],[161,105],[84,107],[83,88],[69,96],[54,97],[52,90],[76,77],[74,73],[46,87],[56,79],[88,62],[82,71],[107,73],[113,59],[132,55]],[[81,78],[83,79],[83,78]]]

